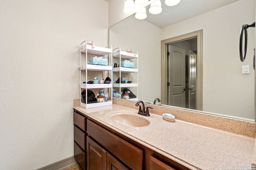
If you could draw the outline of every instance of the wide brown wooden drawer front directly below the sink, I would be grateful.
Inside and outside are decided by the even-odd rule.
[[[143,151],[87,120],[87,133],[109,152],[135,170],[142,170]]]

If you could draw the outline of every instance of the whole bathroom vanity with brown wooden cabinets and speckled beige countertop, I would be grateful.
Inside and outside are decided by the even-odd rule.
[[[239,168],[250,165],[254,141],[116,104],[74,106],[74,156],[88,170]]]

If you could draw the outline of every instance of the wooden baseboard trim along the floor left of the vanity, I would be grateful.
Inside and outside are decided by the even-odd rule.
[[[78,162],[74,156],[70,156],[69,158],[60,160],[37,170],[63,170],[64,168],[68,168],[74,164],[78,164]]]

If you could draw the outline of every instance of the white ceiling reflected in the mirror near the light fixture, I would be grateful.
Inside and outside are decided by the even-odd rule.
[[[176,6],[166,6],[164,0],[161,0],[162,12],[157,15],[152,15],[147,9],[148,17],[145,20],[163,28],[236,1],[238,0],[181,0]],[[147,8],[149,8],[149,6]]]

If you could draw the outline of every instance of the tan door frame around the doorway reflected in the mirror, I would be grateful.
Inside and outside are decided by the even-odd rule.
[[[192,33],[186,33],[177,37],[164,39],[161,41],[161,100],[162,104],[167,102],[167,59],[166,59],[166,44],[182,41],[197,37],[197,68],[196,68],[196,110],[203,109],[203,30],[194,31]]]

